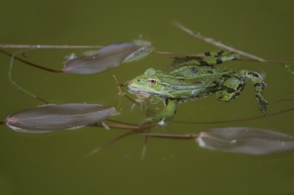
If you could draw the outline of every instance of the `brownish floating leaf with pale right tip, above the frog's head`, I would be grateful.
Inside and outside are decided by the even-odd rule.
[[[148,41],[114,43],[85,56],[68,60],[63,71],[75,74],[99,73],[118,67],[123,62],[139,59],[150,51],[151,43]]]

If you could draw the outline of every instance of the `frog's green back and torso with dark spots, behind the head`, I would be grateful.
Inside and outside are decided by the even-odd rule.
[[[156,71],[156,76],[158,85],[164,86],[162,96],[191,101],[215,93],[223,79],[234,72],[225,67],[188,65],[169,73]]]

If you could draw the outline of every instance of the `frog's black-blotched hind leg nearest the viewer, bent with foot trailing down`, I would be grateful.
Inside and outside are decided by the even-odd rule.
[[[268,103],[263,98],[263,90],[266,87],[266,84],[263,82],[262,76],[256,72],[240,70],[234,75],[231,75],[216,92],[217,99],[224,102],[236,99],[242,92],[247,80],[254,84],[258,107],[267,116],[266,105]]]

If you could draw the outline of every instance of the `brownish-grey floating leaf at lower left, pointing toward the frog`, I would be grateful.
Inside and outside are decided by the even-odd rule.
[[[6,124],[20,132],[57,131],[100,122],[114,110],[97,104],[48,104],[13,113]]]

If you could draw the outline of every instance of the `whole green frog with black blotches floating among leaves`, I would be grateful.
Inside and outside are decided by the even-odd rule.
[[[214,67],[213,64],[238,59],[238,55],[226,52],[207,52],[204,57],[177,57],[173,63],[178,67],[169,73],[147,69],[143,75],[132,79],[128,90],[138,97],[159,97],[164,110],[152,118],[153,121],[171,119],[177,104],[193,101],[216,93],[218,100],[231,101],[239,96],[247,80],[255,87],[255,96],[260,110],[266,115],[263,89],[266,84],[260,74],[250,70],[234,70]]]

